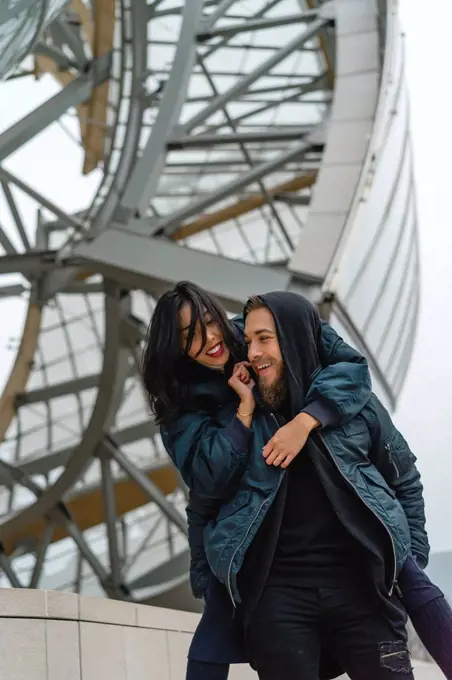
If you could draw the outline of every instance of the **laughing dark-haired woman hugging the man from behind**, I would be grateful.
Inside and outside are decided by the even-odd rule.
[[[241,318],[229,321],[210,295],[182,283],[157,304],[143,355],[151,408],[162,425],[165,445],[192,492],[187,514],[193,591],[198,597],[208,593],[189,654],[187,677],[193,679],[226,678],[228,664],[246,658],[227,593],[208,576],[202,540],[206,523],[234,493],[248,462],[250,390],[243,384],[243,372],[233,372],[234,364],[246,358],[242,331]],[[339,425],[353,418],[370,396],[365,360],[327,324],[321,326],[318,350],[321,365],[311,376],[304,407],[280,430],[285,430],[284,436],[292,444],[298,442],[298,450],[314,427]],[[230,464],[220,466],[225,457]],[[435,620],[441,616],[449,620],[450,611],[442,593],[432,589],[422,570],[413,569],[425,591],[423,617],[417,622],[425,644],[422,622],[427,605],[431,613],[435,604]],[[401,578],[400,585],[409,609],[413,578],[407,570],[402,575],[405,581]],[[416,616],[409,613],[416,624]],[[427,646],[438,657],[432,641],[427,640]]]

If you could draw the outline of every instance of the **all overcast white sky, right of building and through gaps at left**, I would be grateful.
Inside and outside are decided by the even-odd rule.
[[[406,69],[411,94],[412,134],[421,238],[421,321],[410,372],[395,420],[418,456],[434,550],[452,549],[452,194],[450,159],[450,0],[401,0],[406,30]],[[39,85],[31,79],[2,84],[0,130],[57,91],[51,78]],[[7,106],[5,106],[7,104]],[[66,127],[77,134],[77,126]],[[19,174],[68,212],[85,207],[96,175],[80,177],[82,155],[68,147],[67,131],[53,125],[8,160]],[[67,150],[71,149],[70,162]],[[64,179],[62,179],[64,177]],[[36,208],[26,199],[21,210],[30,233]],[[7,217],[0,203],[0,222]],[[5,281],[0,281],[3,284]],[[14,351],[11,337],[20,337],[24,301],[0,304],[0,385],[9,372]]]

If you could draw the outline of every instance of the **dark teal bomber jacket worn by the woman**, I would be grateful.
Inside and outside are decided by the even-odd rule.
[[[233,361],[239,361],[246,358],[243,317],[235,317],[233,323],[242,348]],[[372,388],[366,359],[323,321],[317,342],[318,364],[308,379],[309,388],[300,411],[309,413],[326,428],[350,421],[369,400]],[[232,365],[228,368],[230,372]],[[263,444],[275,433],[278,424],[267,410],[258,409],[252,430],[248,430],[236,417],[238,398],[227,384],[228,375],[197,364],[193,376],[191,409],[165,423],[161,435],[190,489],[187,507],[190,580],[195,597],[204,597],[211,576],[203,537],[206,525],[217,516],[221,506],[228,507],[251,452],[260,458]]]

